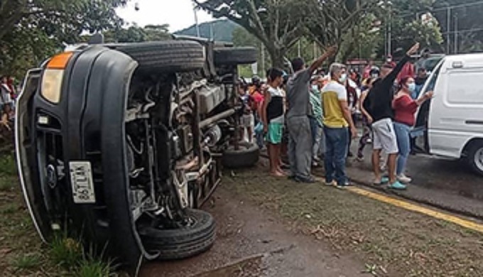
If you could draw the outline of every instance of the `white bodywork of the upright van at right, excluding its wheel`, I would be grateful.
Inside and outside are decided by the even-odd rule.
[[[432,154],[461,158],[468,141],[483,136],[483,65],[474,60],[454,56],[439,72],[428,118]]]

